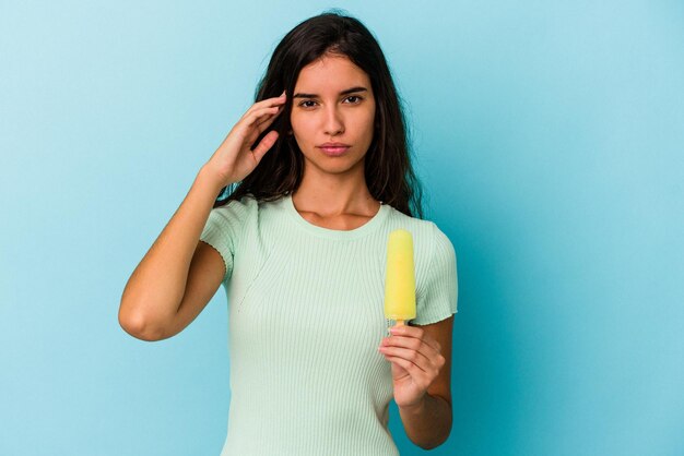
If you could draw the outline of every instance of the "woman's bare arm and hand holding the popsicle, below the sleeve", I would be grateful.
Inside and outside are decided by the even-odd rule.
[[[451,331],[453,315],[424,326],[390,328],[379,351],[392,363],[394,401],[406,435],[424,449],[451,432]]]

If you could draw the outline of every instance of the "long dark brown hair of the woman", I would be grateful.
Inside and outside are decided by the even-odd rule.
[[[255,103],[276,97],[283,91],[286,91],[287,99],[281,115],[259,135],[252,147],[272,130],[278,131],[278,141],[251,173],[222,190],[214,207],[247,194],[259,201],[273,201],[297,190],[304,172],[304,157],[294,136],[288,134],[292,96],[302,69],[326,53],[346,56],[368,74],[373,86],[376,127],[365,156],[368,191],[384,204],[423,218],[422,189],[411,166],[406,121],[382,50],[357,19],[338,10],[302,22],[276,46],[257,87]]]

